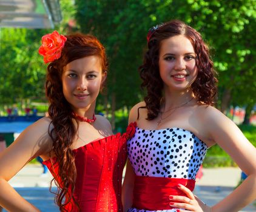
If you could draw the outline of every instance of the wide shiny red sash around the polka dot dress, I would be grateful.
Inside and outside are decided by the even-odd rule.
[[[135,176],[132,207],[140,210],[170,210],[170,195],[186,196],[177,187],[178,184],[190,191],[195,187],[192,179]]]

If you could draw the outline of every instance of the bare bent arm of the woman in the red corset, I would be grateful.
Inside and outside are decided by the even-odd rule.
[[[7,211],[39,211],[21,197],[8,181],[33,158],[49,152],[49,124],[49,119],[42,118],[30,125],[0,154],[0,205]]]

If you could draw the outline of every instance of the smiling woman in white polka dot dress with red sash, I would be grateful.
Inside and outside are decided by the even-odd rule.
[[[144,102],[130,111],[125,211],[238,211],[256,196],[256,150],[239,128],[212,107],[215,71],[200,33],[181,21],[150,29],[140,67]],[[218,144],[248,178],[218,204],[192,193],[208,148]],[[214,176],[213,176],[214,177]]]

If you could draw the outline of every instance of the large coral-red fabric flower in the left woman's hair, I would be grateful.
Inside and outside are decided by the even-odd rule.
[[[53,62],[61,57],[61,51],[67,38],[59,35],[58,31],[53,31],[42,36],[42,45],[39,47],[38,53],[44,56],[44,63]]]

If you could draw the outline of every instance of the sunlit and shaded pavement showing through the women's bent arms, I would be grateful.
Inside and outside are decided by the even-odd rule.
[[[42,176],[41,173],[41,165],[29,164],[9,183],[42,212],[57,212],[59,210],[54,204],[54,194],[49,192],[52,176],[51,174]],[[203,177],[197,182],[194,193],[207,205],[215,205],[234,190],[240,180],[240,174],[239,168],[204,168]],[[56,191],[56,187],[53,187],[53,191]],[[256,211],[256,207],[251,204],[241,210],[241,212],[249,211]]]

